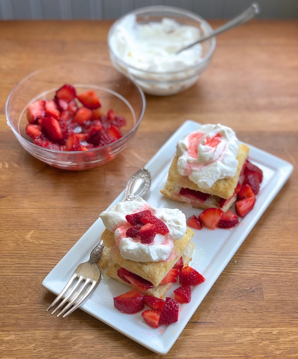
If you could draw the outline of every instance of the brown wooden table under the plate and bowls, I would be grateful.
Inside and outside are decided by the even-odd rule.
[[[221,22],[212,21],[216,27]],[[6,125],[5,101],[32,70],[64,59],[109,64],[111,22],[1,22],[0,357],[159,358],[81,310],[59,320],[43,278],[188,118],[296,167],[165,358],[298,357],[298,27],[252,21],[217,39],[191,89],[146,96],[136,137],[112,162],[66,172],[31,157]],[[237,262],[236,262],[237,261]]]

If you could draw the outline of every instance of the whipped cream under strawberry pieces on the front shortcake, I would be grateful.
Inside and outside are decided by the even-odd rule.
[[[139,237],[126,237],[126,231],[132,227],[125,216],[144,210],[150,210],[152,215],[164,222],[169,233],[165,236],[156,233],[152,243],[143,244]],[[171,254],[174,239],[180,240],[186,232],[185,215],[179,209],[154,208],[147,204],[141,197],[133,201],[119,202],[103,211],[100,218],[105,227],[114,232],[115,242],[124,259],[137,262],[165,261]]]

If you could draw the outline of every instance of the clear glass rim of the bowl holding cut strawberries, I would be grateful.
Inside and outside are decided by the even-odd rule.
[[[52,150],[52,149],[49,149],[49,148],[45,148],[45,147],[41,147],[41,146],[38,146],[36,145],[35,143],[33,142],[30,142],[28,141],[25,137],[23,137],[22,135],[20,135],[12,126],[12,124],[10,123],[11,122],[11,116],[8,112],[8,105],[9,105],[9,101],[10,101],[10,98],[12,97],[15,89],[17,89],[17,87],[19,85],[21,85],[23,82],[25,82],[26,80],[28,80],[31,76],[33,75],[36,75],[38,74],[39,72],[43,71],[43,70],[46,70],[46,69],[49,69],[49,68],[52,68],[52,67],[58,67],[59,65],[69,65],[71,66],[71,64],[76,64],[76,65],[88,65],[88,64],[93,64],[93,65],[97,65],[97,66],[105,66],[105,67],[111,67],[113,68],[115,71],[117,71],[119,74],[123,75],[125,78],[127,78],[128,80],[130,80],[135,86],[136,88],[138,89],[140,95],[141,95],[141,99],[142,99],[142,111],[141,111],[141,114],[139,116],[139,119],[138,121],[135,123],[135,125],[132,127],[132,129],[130,129],[127,134],[125,134],[124,136],[122,136],[120,139],[114,141],[114,142],[111,142],[107,145],[104,145],[104,146],[101,146],[101,147],[96,147],[96,148],[93,148],[93,149],[90,149],[90,150],[87,150],[87,151],[84,151],[85,153],[89,153],[89,152],[94,152],[94,151],[100,151],[102,149],[105,149],[107,147],[111,147],[113,146],[115,143],[121,143],[121,142],[124,142],[124,140],[126,139],[126,137],[128,137],[134,130],[136,130],[144,116],[144,113],[145,113],[145,109],[146,109],[146,97],[145,97],[145,94],[142,90],[142,88],[135,82],[133,81],[131,78],[129,78],[128,76],[125,76],[124,74],[120,73],[118,70],[115,69],[114,66],[108,66],[108,65],[105,65],[105,64],[98,64],[96,62],[79,62],[79,61],[64,61],[64,62],[59,62],[58,64],[52,64],[52,65],[49,65],[49,66],[45,66],[45,67],[42,67],[38,70],[35,70],[35,71],[32,71],[31,73],[29,73],[28,75],[26,75],[24,78],[22,78],[20,81],[18,81],[17,84],[14,85],[14,87],[12,88],[12,90],[10,91],[9,95],[8,95],[8,98],[6,100],[6,103],[5,103],[5,116],[6,116],[6,122],[8,124],[8,126],[10,127],[10,129],[13,131],[14,135],[17,137],[17,139],[22,139],[22,141],[25,141],[25,143],[27,143],[28,145],[32,145],[33,148],[36,148],[36,149],[39,149],[39,150],[44,150],[45,152],[50,152],[50,153],[57,153],[57,154],[61,154],[61,153],[65,153],[65,154],[71,154],[71,153],[78,153],[78,151],[59,151],[59,150]],[[109,90],[107,92],[111,92],[113,90],[110,90],[108,88],[105,88],[105,87],[102,87],[102,89],[106,89],[106,90]],[[113,91],[115,92],[115,91]],[[117,93],[117,92],[115,92]],[[123,100],[122,100],[123,101]]]

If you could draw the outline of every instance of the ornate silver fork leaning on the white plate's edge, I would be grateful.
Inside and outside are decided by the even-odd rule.
[[[147,169],[141,168],[129,178],[125,187],[124,199],[122,202],[132,201],[136,197],[142,197],[147,193],[150,186],[150,173]],[[62,308],[68,300],[70,300],[57,315],[57,317],[60,317],[69,309],[68,312],[62,316],[62,318],[65,318],[84,302],[84,300],[93,292],[101,281],[101,271],[97,262],[100,260],[103,250],[104,245],[102,244],[102,241],[100,241],[91,251],[89,260],[77,266],[73,275],[58,297],[49,306],[49,308],[47,308],[47,311],[54,307],[63,298],[62,302],[54,309],[54,311],[52,311],[51,314],[54,314],[58,311],[58,309]]]

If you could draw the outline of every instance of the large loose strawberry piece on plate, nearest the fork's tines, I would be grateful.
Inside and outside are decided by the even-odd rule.
[[[136,290],[120,294],[114,298],[114,306],[122,313],[134,314],[144,308],[143,296]]]

